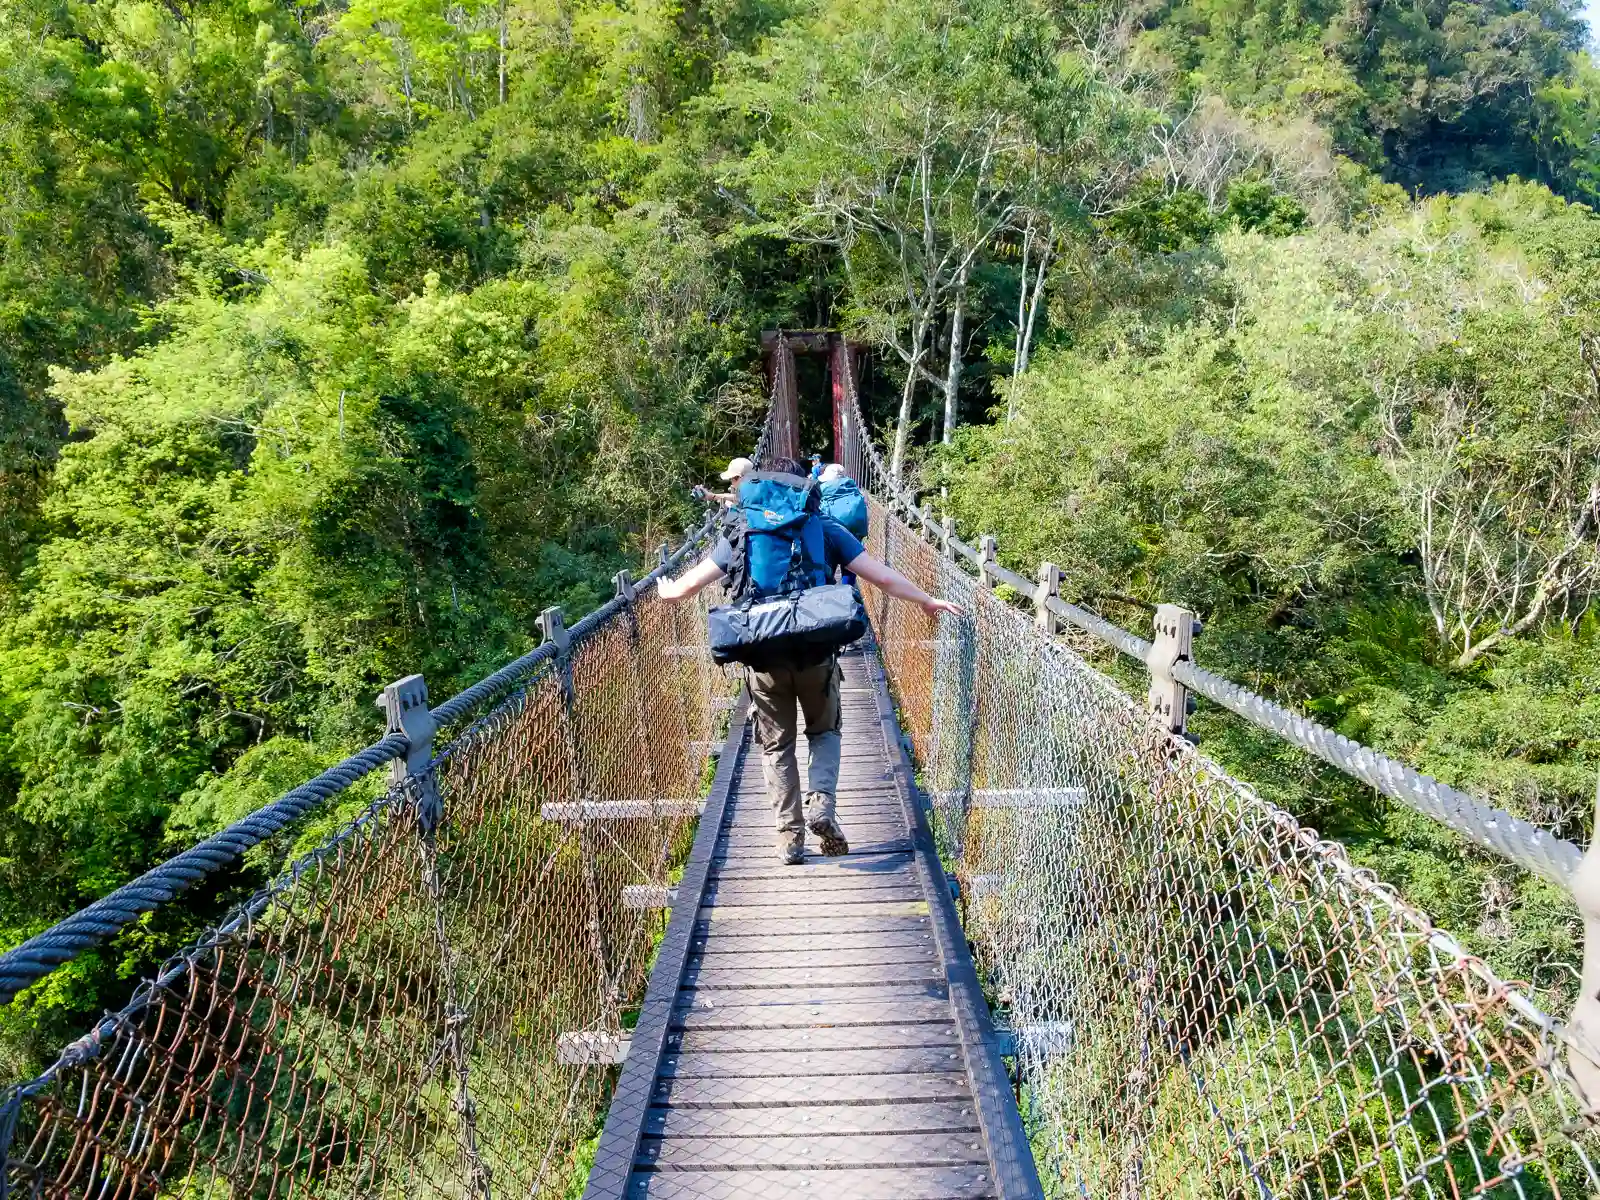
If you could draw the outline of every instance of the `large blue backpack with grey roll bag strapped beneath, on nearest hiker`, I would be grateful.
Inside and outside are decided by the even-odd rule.
[[[709,614],[715,662],[805,667],[867,632],[854,589],[827,582],[821,507],[816,480],[765,470],[744,477],[733,603]]]

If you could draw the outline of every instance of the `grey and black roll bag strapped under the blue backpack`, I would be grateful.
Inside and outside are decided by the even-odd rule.
[[[822,584],[710,610],[714,662],[816,662],[867,632],[867,611],[850,584]]]

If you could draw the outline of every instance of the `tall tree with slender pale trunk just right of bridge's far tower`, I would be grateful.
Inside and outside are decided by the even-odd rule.
[[[1010,214],[1000,171],[1014,134],[954,69],[971,66],[970,42],[949,5],[867,0],[790,27],[718,90],[757,141],[730,181],[786,237],[838,250],[854,318],[906,368],[896,477],[917,382],[934,378],[939,307],[952,306],[958,346],[973,261]],[[952,363],[958,378],[958,352]]]

